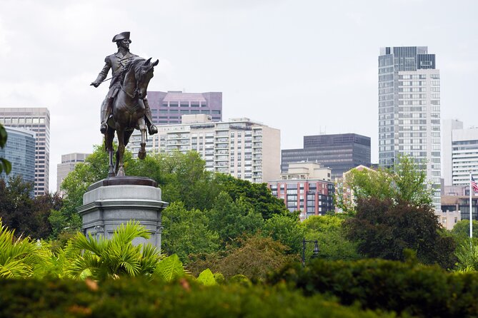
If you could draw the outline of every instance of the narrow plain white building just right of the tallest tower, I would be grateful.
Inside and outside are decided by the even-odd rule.
[[[456,129],[463,129],[462,121],[442,120],[442,178],[445,187],[453,185],[452,143],[453,130]]]

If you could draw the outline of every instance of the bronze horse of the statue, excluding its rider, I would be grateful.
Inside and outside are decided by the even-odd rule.
[[[129,138],[134,129],[141,131],[141,148],[139,159],[146,157],[146,122],[144,120],[144,103],[149,81],[153,78],[154,66],[159,61],[151,63],[151,58],[134,58],[124,68],[121,88],[114,98],[111,107],[111,116],[107,124],[108,130],[104,134],[104,143],[109,155],[108,178],[124,177],[123,155],[124,148],[129,143]],[[113,139],[114,132],[118,137],[118,150],[116,150],[116,165],[113,166]]]

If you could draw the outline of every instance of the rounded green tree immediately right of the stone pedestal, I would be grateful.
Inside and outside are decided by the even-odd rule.
[[[173,202],[163,211],[161,247],[186,262],[189,254],[211,253],[219,248],[219,235],[209,230],[209,220],[201,210],[186,210],[182,202]]]

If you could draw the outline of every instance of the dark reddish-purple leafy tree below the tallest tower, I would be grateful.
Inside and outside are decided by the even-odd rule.
[[[347,238],[367,257],[404,260],[404,249],[417,251],[424,264],[454,264],[455,242],[442,234],[428,205],[394,204],[392,199],[360,198],[357,215],[344,222]]]

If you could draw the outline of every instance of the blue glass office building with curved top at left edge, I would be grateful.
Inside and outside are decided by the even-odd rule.
[[[0,178],[9,183],[9,178],[20,176],[24,182],[34,183],[35,179],[35,133],[20,128],[5,127],[6,145],[0,148],[0,158],[11,163],[11,172],[0,174]]]

